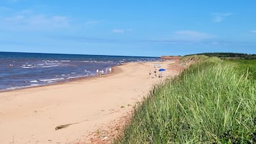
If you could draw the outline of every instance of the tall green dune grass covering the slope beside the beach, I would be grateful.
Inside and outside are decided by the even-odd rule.
[[[115,143],[254,143],[255,80],[236,67],[207,58],[156,85]]]

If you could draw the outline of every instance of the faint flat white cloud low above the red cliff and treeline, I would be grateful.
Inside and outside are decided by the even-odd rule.
[[[186,31],[174,32],[172,39],[183,40],[183,41],[202,41],[204,39],[212,39],[214,37],[215,36],[213,34],[186,30]]]

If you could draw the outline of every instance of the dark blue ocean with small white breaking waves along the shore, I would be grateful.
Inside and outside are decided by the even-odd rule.
[[[0,52],[0,91],[93,77],[96,70],[125,62],[158,61],[159,57]]]

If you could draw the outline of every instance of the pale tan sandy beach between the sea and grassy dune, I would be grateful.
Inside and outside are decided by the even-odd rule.
[[[166,69],[163,77],[152,78],[155,64]],[[103,77],[0,92],[0,143],[89,143],[88,135],[127,115],[153,85],[178,75],[174,65],[131,62]]]

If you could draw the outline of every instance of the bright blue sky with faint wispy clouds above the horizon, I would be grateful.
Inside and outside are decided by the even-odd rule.
[[[0,52],[256,54],[256,1],[0,0]]]

